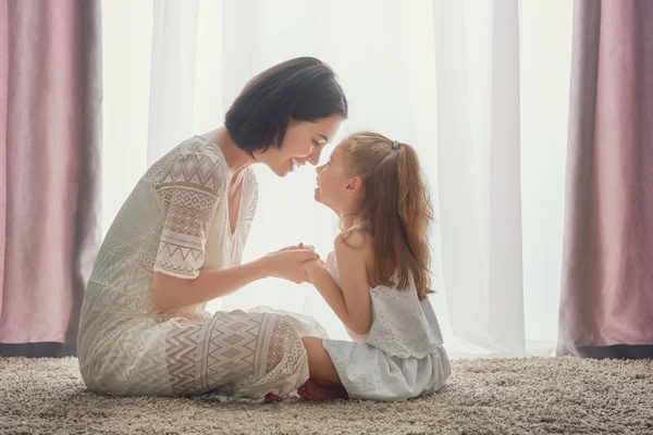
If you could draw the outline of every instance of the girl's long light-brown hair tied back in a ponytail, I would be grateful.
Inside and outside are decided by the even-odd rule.
[[[371,132],[355,133],[341,147],[349,175],[360,176],[364,183],[355,226],[372,235],[373,279],[405,290],[412,276],[419,299],[426,299],[433,293],[429,274],[433,209],[417,153],[407,144]]]

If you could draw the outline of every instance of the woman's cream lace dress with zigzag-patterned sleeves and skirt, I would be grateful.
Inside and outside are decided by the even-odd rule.
[[[311,318],[205,311],[206,303],[158,312],[155,272],[195,278],[241,263],[257,204],[247,169],[238,221],[229,224],[230,173],[220,148],[196,136],[139,181],[113,222],[84,298],[79,369],[89,389],[111,395],[210,391],[260,400],[308,378],[300,337],[325,337]]]

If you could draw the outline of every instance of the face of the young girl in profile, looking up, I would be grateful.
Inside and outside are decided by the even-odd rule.
[[[329,161],[316,169],[318,173],[316,201],[323,203],[336,213],[344,210],[346,201],[350,197],[354,181],[347,171],[346,157],[346,151],[338,145],[331,152]]]

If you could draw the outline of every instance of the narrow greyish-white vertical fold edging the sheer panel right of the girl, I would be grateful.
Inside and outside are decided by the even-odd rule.
[[[494,1],[492,29],[489,333],[504,351],[526,355],[517,0]]]

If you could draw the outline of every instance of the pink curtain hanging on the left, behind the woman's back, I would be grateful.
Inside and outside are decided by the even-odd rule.
[[[99,0],[0,0],[0,355],[74,355],[99,247]]]

